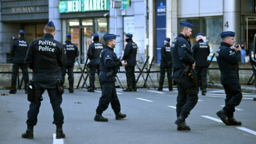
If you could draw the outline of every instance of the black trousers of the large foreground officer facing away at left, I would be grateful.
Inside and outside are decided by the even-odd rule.
[[[28,110],[28,125],[36,125],[37,122],[37,115],[39,113],[39,109],[41,106],[40,97],[45,91],[45,88],[41,88],[37,84],[35,84],[35,89],[38,95],[36,95],[36,100],[30,103],[29,110]],[[62,113],[62,109],[60,107],[62,102],[62,96],[57,92],[57,88],[55,89],[47,89],[48,95],[50,97],[50,102],[52,104],[53,109],[53,118],[54,121],[52,124],[63,124],[64,116]]]

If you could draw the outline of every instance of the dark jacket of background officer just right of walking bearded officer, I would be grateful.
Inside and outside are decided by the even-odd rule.
[[[138,46],[135,42],[130,38],[127,40],[127,44],[124,49],[123,60],[127,61],[127,66],[135,66],[136,65],[136,54],[137,54]]]

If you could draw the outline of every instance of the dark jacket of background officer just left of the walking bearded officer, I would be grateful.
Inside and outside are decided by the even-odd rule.
[[[91,61],[92,65],[100,64],[100,52],[102,51],[104,45],[99,41],[95,41],[90,44],[89,49],[87,51],[87,56]]]

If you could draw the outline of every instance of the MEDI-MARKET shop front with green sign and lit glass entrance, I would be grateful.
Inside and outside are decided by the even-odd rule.
[[[62,41],[65,42],[65,35],[70,33],[72,43],[79,47],[79,62],[84,63],[93,33],[100,36],[100,42],[104,42],[102,37],[108,33],[109,0],[60,1],[59,12]]]

